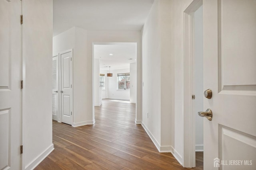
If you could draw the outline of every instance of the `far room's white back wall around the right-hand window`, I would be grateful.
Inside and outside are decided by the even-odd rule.
[[[130,90],[117,90],[117,74],[130,72],[129,68],[120,70],[111,70],[112,77],[106,77],[108,79],[108,98],[109,99],[122,99],[130,100]]]

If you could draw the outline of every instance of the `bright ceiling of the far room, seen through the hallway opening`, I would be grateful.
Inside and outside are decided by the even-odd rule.
[[[101,70],[109,70],[109,66],[110,70],[130,68],[130,63],[136,63],[136,45],[136,43],[94,45],[94,58],[100,59]]]

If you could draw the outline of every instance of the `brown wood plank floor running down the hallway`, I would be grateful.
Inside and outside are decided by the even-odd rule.
[[[53,121],[54,151],[35,170],[181,170],[171,153],[159,153],[141,125],[135,104],[105,99],[95,107],[94,125],[72,127]],[[203,169],[203,153],[196,154]],[[188,168],[190,169],[190,168]]]

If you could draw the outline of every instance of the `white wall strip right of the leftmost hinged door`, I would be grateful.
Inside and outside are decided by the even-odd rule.
[[[22,169],[52,150],[52,0],[22,1]],[[16,148],[18,152],[18,148]]]

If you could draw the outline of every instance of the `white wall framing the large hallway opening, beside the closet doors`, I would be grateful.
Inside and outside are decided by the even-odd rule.
[[[94,119],[94,55],[97,42],[137,43],[137,110],[141,120],[141,33],[140,31],[86,31],[73,27],[53,38],[53,54],[73,49],[74,126],[93,124]]]

